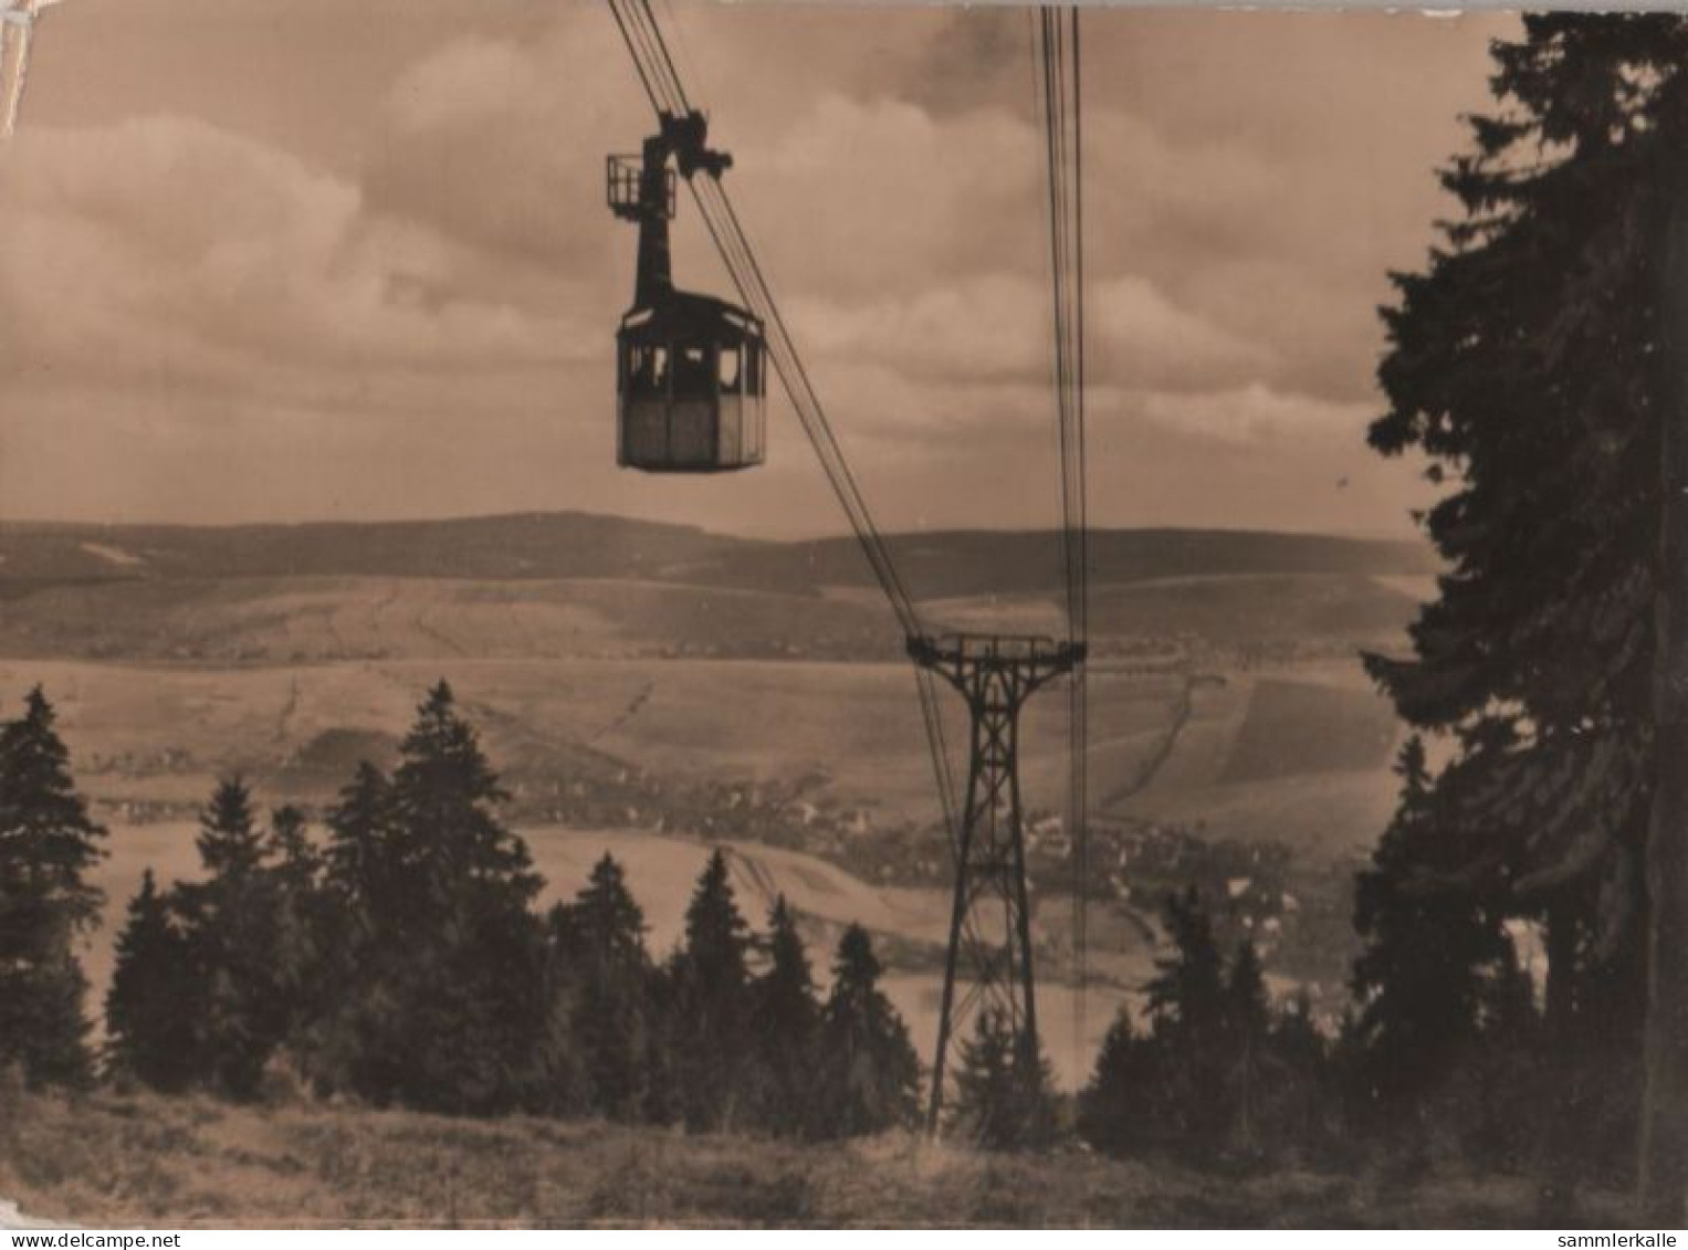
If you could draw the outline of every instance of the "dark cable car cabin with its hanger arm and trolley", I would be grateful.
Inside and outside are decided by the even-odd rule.
[[[668,223],[675,167],[690,179],[733,165],[707,147],[702,113],[662,113],[641,155],[608,160],[609,207],[638,224],[633,307],[616,331],[616,461],[645,472],[731,472],[763,462],[761,321],[714,295],[679,290]]]

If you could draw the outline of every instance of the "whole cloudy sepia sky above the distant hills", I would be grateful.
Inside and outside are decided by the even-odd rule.
[[[1055,525],[1026,12],[655,8],[881,526]],[[1411,533],[1376,309],[1512,30],[1084,15],[1092,523]],[[0,518],[841,531],[783,396],[765,467],[614,466],[650,128],[586,0],[66,0],[0,152]],[[726,294],[689,202],[675,270]]]

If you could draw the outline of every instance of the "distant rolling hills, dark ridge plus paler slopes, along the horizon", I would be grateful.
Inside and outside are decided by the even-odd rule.
[[[1062,629],[1060,535],[893,535],[935,629]],[[1090,535],[1097,639],[1394,644],[1426,548],[1318,535]],[[755,541],[584,513],[230,528],[0,523],[0,656],[302,663],[895,660],[851,538]]]

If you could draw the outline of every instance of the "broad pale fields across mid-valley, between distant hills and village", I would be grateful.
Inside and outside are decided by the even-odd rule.
[[[0,660],[0,693],[17,698],[35,683],[47,690],[86,791],[118,818],[154,808],[181,815],[233,773],[270,801],[324,805],[360,759],[392,759],[414,705],[439,676],[452,682],[493,759],[518,786],[636,768],[694,783],[809,783],[879,827],[935,815],[905,665]],[[1394,791],[1388,766],[1398,729],[1357,665],[1190,680],[1104,663],[1090,683],[1101,815],[1332,850],[1367,845],[1381,828]],[[945,715],[959,747],[959,698],[945,700]],[[1028,808],[1060,808],[1063,715],[1058,697],[1028,705]],[[957,769],[964,762],[954,757]]]

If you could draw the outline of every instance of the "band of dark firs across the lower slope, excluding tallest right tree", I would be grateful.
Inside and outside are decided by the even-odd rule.
[[[1404,803],[1423,786],[1416,746]],[[91,914],[88,816],[41,690],[0,730],[8,943],[0,1058],[27,1086],[147,1086],[235,1103],[289,1095],[457,1117],[537,1115],[832,1140],[923,1123],[922,1064],[851,926],[817,989],[780,899],[753,931],[726,859],[695,882],[680,946],[655,960],[621,867],[596,865],[540,913],[540,881],[451,687],[427,692],[388,774],[365,764],[321,828],[218,784],[203,876],[130,899],[91,1044],[69,938]],[[22,854],[20,854],[22,852]],[[1082,1140],[1112,1156],[1242,1169],[1388,1161],[1622,1181],[1634,1088],[1583,1098],[1573,1157],[1545,1159],[1546,1046],[1511,945],[1445,904],[1362,877],[1374,935],[1355,1009],[1332,1034],[1305,997],[1273,1002],[1254,946],[1222,951],[1204,899],[1165,899],[1146,1019],[1123,1010],[1077,1096],[982,1012],[962,1041],[944,1130],[984,1150]],[[1423,938],[1436,935],[1426,946]],[[1485,940],[1487,935],[1487,940]],[[1575,1064],[1588,1056],[1570,1056]],[[1617,1169],[1614,1174],[1614,1161]]]

